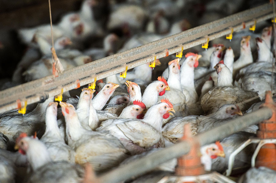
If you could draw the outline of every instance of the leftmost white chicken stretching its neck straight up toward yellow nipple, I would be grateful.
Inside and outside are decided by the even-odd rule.
[[[74,150],[65,144],[64,139],[60,135],[57,123],[58,102],[50,102],[46,110],[46,129],[41,137],[49,155],[53,161],[68,161],[75,163]]]

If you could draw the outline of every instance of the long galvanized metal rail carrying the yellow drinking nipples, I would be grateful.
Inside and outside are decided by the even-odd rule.
[[[125,70],[148,63],[173,54],[184,49],[202,44],[209,40],[224,36],[234,31],[243,29],[245,26],[267,20],[273,17],[273,7],[271,4],[265,4],[256,8],[248,9],[240,13],[227,16],[220,20],[195,27],[172,36],[162,38],[125,52],[96,60],[73,69],[65,70],[60,76],[53,75],[31,81],[19,86],[0,91],[0,113],[17,108],[17,99],[20,99],[21,105],[24,101],[28,104],[39,102],[47,96],[58,95],[63,91],[69,91],[76,88],[76,81],[79,80],[80,86],[91,83],[94,77],[102,79],[107,76],[117,74]]]

